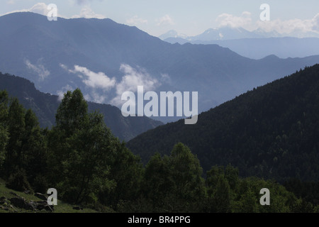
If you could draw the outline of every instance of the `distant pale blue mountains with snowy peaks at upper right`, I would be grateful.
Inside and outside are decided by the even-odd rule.
[[[307,57],[319,54],[318,35],[297,38],[284,36],[276,32],[262,30],[247,31],[244,28],[211,28],[195,36],[179,35],[177,31],[168,31],[159,38],[168,43],[217,44],[229,48],[237,54],[252,59],[262,59],[268,55],[281,58]]]

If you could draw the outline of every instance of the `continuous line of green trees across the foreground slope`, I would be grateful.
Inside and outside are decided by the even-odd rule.
[[[203,177],[205,176],[205,177]],[[203,172],[196,155],[177,143],[143,166],[105,125],[88,112],[79,89],[67,92],[52,129],[33,111],[0,92],[0,177],[7,187],[46,193],[99,211],[117,212],[318,212],[277,182],[240,178],[235,167]],[[262,206],[260,189],[270,191]]]

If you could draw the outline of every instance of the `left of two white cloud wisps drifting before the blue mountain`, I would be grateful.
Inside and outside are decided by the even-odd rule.
[[[65,65],[60,65],[60,67],[66,69]],[[79,73],[79,77],[82,79],[82,82],[86,84],[86,86],[94,88],[94,89],[104,89],[108,91],[116,84],[116,79],[109,78],[103,72],[92,72],[86,67],[81,67],[79,65],[74,65],[74,70],[69,70],[74,74]]]

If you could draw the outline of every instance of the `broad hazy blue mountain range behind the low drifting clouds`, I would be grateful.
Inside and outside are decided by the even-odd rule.
[[[79,87],[86,100],[118,107],[123,92],[143,85],[145,92],[198,92],[199,112],[206,111],[319,62],[318,55],[252,60],[219,45],[171,44],[111,19],[11,13],[0,17],[0,29],[1,72],[50,94]]]

